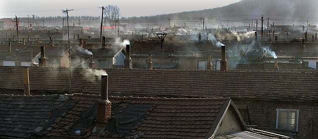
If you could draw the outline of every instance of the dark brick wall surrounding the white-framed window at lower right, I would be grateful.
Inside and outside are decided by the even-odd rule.
[[[299,110],[298,132],[295,139],[318,139],[318,101],[296,102],[296,101],[272,101],[272,100],[236,100],[233,99],[238,108],[249,107],[250,123],[269,129],[276,129],[276,109],[297,109]],[[246,111],[242,112],[244,121],[248,122]],[[312,128],[310,125],[313,120]],[[316,131],[316,132],[315,132]]]

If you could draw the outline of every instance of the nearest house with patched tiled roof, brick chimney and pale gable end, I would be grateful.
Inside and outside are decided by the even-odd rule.
[[[230,98],[101,97],[0,95],[0,138],[292,139],[247,129]],[[103,103],[106,116],[99,112]]]

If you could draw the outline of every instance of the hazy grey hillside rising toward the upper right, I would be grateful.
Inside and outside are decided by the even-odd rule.
[[[132,17],[134,19],[191,19],[204,17],[211,20],[237,20],[244,22],[250,19],[264,18],[318,23],[318,0],[241,0],[223,7],[162,14],[146,17]],[[161,21],[162,22],[162,21]]]

